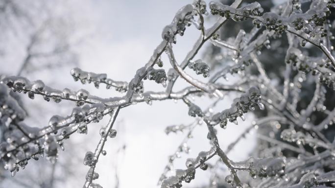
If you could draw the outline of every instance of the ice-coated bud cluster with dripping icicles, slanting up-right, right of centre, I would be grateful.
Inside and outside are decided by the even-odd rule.
[[[242,94],[242,96],[235,98],[229,109],[213,115],[212,121],[214,124],[220,124],[222,128],[226,128],[228,121],[238,124],[237,117],[240,117],[244,121],[243,113],[247,113],[248,110],[255,110],[255,104],[261,110],[264,109],[264,104],[261,102],[261,91],[253,86]]]

